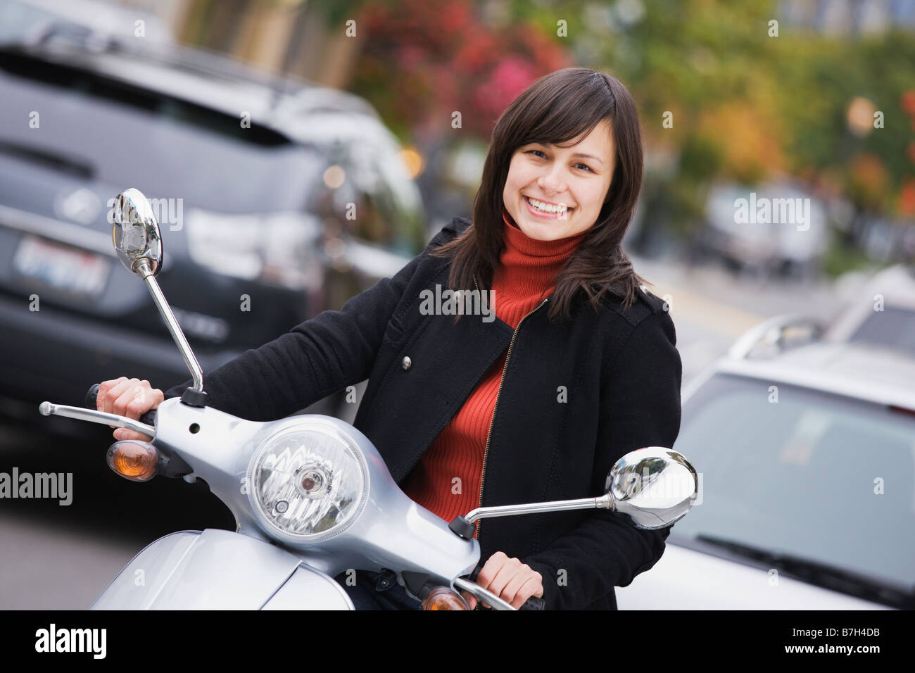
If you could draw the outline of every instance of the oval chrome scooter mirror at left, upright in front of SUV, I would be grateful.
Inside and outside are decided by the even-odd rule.
[[[162,266],[162,235],[149,200],[140,190],[124,190],[114,201],[114,250],[121,264],[141,278]],[[145,260],[145,261],[144,261]]]

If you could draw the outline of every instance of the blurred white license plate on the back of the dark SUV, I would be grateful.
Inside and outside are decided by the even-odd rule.
[[[13,259],[16,272],[50,288],[95,297],[108,280],[110,262],[100,255],[26,236]]]

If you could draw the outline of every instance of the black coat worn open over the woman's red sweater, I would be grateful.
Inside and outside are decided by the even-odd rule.
[[[393,278],[207,374],[210,405],[273,420],[368,378],[354,425],[403,484],[514,333],[498,318],[454,325],[420,313],[421,290],[447,288],[449,261],[429,250],[469,224],[455,218]],[[673,448],[682,368],[662,300],[640,291],[630,309],[607,299],[599,313],[583,301],[571,322],[551,325],[542,303],[519,324],[490,429],[484,506],[599,495],[623,454]],[[616,609],[613,587],[649,570],[670,532],[627,519],[607,510],[483,519],[481,559],[503,551],[539,572],[547,609]]]

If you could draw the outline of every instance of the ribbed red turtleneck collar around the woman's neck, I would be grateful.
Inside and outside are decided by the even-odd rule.
[[[531,238],[502,209],[501,264],[493,277],[493,288],[514,297],[540,297],[554,288],[554,277],[572,255],[587,232],[541,241]]]

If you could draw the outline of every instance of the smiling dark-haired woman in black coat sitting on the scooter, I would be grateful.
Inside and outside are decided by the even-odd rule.
[[[620,246],[641,172],[625,86],[586,68],[535,81],[493,130],[472,224],[455,218],[393,278],[207,374],[209,404],[270,420],[368,378],[354,425],[446,520],[603,493],[620,456],[673,448],[680,429],[673,320]],[[138,418],[188,385],[107,381],[99,408]],[[515,607],[616,609],[613,587],[669,532],[604,510],[485,519],[477,581]],[[418,607],[390,577],[357,576],[358,608]]]

